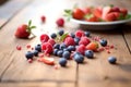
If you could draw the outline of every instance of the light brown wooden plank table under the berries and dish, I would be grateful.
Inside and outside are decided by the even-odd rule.
[[[95,59],[85,59],[84,64],[68,61],[68,67],[59,67],[34,61],[27,63],[24,53],[26,45],[39,44],[40,34],[58,32],[56,20],[64,9],[73,4],[106,5],[115,4],[131,11],[131,0],[10,0],[0,7],[0,87],[131,87],[131,25],[115,30],[91,32],[92,36],[108,39],[116,49],[111,53],[95,53]],[[46,15],[46,23],[40,16]],[[28,20],[37,26],[33,39],[14,37],[16,27]],[[75,32],[79,25],[66,22],[66,32]],[[87,29],[86,29],[87,30]],[[16,46],[22,46],[17,51]],[[117,64],[109,64],[107,58],[115,55]],[[58,63],[59,58],[55,58]]]

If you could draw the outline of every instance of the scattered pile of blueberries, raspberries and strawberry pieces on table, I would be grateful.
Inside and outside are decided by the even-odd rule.
[[[40,44],[36,45],[32,51],[25,53],[25,58],[29,63],[33,62],[34,57],[37,61],[49,65],[56,65],[53,57],[59,58],[59,64],[67,66],[68,60],[74,60],[76,63],[83,63],[84,59],[93,59],[95,52],[107,51],[110,53],[110,46],[108,41],[98,36],[92,36],[90,32],[78,29],[75,33],[64,33],[60,29],[58,33],[51,35],[43,34],[39,37]],[[26,48],[32,46],[27,45]],[[22,50],[20,46],[17,50]],[[115,57],[108,58],[109,63],[116,63]]]

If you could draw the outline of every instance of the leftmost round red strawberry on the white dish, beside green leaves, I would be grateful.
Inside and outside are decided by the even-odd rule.
[[[72,15],[73,15],[73,18],[82,20],[85,14],[81,9],[76,8],[76,9],[73,10]]]

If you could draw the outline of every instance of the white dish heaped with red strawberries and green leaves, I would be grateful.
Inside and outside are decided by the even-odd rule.
[[[70,21],[93,30],[115,29],[131,21],[127,9],[114,5],[74,8],[64,12]]]

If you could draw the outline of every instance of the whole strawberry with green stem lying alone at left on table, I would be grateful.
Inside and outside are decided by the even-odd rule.
[[[28,38],[29,35],[32,34],[32,29],[36,28],[36,26],[31,26],[32,21],[28,22],[28,25],[23,24],[17,27],[14,36],[17,38]]]

